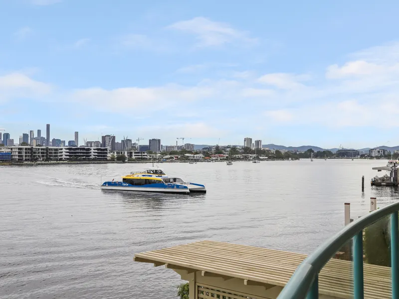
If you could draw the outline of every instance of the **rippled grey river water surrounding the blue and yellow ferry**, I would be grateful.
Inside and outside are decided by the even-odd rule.
[[[100,190],[101,180],[150,164],[0,166],[0,298],[174,299],[180,276],[133,262],[135,253],[200,240],[312,252],[370,197],[385,160],[164,163],[206,194]],[[365,175],[365,192],[361,178]]]

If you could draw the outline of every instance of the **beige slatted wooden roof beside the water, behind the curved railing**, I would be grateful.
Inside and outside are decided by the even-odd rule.
[[[136,262],[167,268],[200,271],[202,276],[242,279],[244,285],[284,287],[304,254],[267,248],[201,241],[135,255]],[[319,293],[353,298],[352,262],[331,259],[319,276]],[[365,298],[392,298],[391,268],[364,265]]]

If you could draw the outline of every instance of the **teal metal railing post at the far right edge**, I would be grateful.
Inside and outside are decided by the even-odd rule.
[[[398,211],[391,214],[392,298],[399,299]]]

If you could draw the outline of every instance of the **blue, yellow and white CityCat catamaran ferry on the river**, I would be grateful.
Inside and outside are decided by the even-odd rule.
[[[122,181],[104,182],[101,189],[123,191],[147,191],[163,193],[190,194],[206,193],[204,185],[185,182],[178,177],[170,177],[160,168],[147,168],[143,171],[131,172],[122,176]]]

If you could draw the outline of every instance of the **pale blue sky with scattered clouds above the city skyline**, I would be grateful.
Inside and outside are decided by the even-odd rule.
[[[394,0],[0,0],[0,128],[17,141],[51,124],[51,139],[78,131],[80,144],[112,134],[397,146],[398,10]]]

